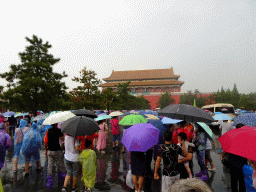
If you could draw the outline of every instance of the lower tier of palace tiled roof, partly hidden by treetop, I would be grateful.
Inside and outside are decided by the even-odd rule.
[[[182,85],[183,81],[139,81],[139,82],[131,82],[129,86],[150,86],[150,85]],[[118,83],[105,83],[99,85],[100,87],[115,87]]]

